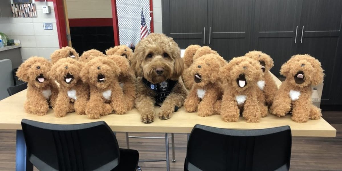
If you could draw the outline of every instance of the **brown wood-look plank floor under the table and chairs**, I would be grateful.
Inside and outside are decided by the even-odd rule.
[[[336,137],[293,137],[291,171],[342,171],[342,112],[323,112],[323,116],[337,129]],[[162,133],[130,133],[130,135],[164,136]],[[117,139],[120,148],[126,148],[126,134],[117,133]],[[175,146],[176,162],[170,162],[171,171],[182,171],[186,155],[186,134],[175,134]],[[164,139],[131,138],[130,147],[139,151],[140,159],[166,157]],[[140,162],[139,166],[143,171],[166,170],[166,162]],[[0,171],[13,170],[15,170],[15,131],[0,130]]]

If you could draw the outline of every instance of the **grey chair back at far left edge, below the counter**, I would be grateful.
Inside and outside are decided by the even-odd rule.
[[[14,85],[12,62],[9,59],[0,60],[0,100],[8,97],[6,89]]]

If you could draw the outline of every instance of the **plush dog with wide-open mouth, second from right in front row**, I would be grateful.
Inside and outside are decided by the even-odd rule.
[[[257,82],[263,76],[260,68],[259,62],[245,56],[234,57],[222,68],[220,75],[226,81],[221,104],[224,121],[238,121],[242,111],[247,122],[259,122],[263,105],[257,99]]]

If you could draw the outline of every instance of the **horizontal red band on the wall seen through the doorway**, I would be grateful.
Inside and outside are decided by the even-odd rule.
[[[69,18],[69,27],[113,26],[113,18]]]

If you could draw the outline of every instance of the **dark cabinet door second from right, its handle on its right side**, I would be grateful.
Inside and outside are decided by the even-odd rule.
[[[277,76],[282,64],[294,55],[299,43],[301,0],[256,0],[253,49],[274,60],[271,72]],[[297,29],[298,28],[298,29]]]

